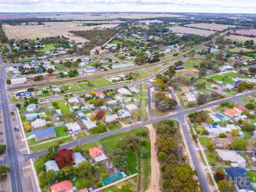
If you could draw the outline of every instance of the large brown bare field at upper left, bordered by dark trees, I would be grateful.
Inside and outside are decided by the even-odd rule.
[[[87,42],[85,38],[81,36],[75,36],[68,31],[86,31],[94,28],[114,28],[118,26],[118,24],[102,24],[99,26],[78,26],[79,24],[83,24],[83,22],[45,22],[44,25],[41,26],[8,26],[4,25],[3,29],[6,36],[9,39],[36,39],[43,38],[47,36],[65,36],[70,40],[74,40],[75,42],[83,43]]]

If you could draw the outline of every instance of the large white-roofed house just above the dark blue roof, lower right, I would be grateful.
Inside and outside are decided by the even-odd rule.
[[[230,161],[231,163],[246,163],[244,158],[234,150],[216,150],[216,152],[223,161]]]

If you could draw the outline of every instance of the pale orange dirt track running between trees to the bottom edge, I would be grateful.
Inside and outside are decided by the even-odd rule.
[[[159,162],[157,159],[157,149],[155,147],[156,143],[156,130],[152,124],[147,125],[149,130],[149,137],[151,141],[151,180],[147,192],[158,192],[161,191],[159,188],[160,180],[160,171],[159,171]]]

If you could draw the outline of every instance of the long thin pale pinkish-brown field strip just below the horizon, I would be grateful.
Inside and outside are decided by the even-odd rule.
[[[65,14],[51,14],[41,15],[38,18],[51,18],[51,19],[75,19],[75,20],[100,20],[100,19],[144,19],[156,17],[180,17],[180,15],[172,15],[168,13],[65,13]]]

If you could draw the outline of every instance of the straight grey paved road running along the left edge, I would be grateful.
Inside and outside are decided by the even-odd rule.
[[[0,65],[3,65],[3,61],[0,54]],[[4,129],[6,133],[6,145],[7,152],[4,158],[4,164],[10,166],[11,172],[11,182],[12,182],[12,191],[13,192],[22,192],[22,182],[20,171],[22,166],[19,164],[18,158],[19,151],[15,146],[15,141],[13,139],[12,132],[12,124],[11,124],[11,116],[10,110],[8,107],[8,98],[6,97],[6,91],[4,88],[4,84],[6,81],[6,75],[4,72],[4,67],[1,67],[1,76],[0,76],[0,94],[1,94],[1,108],[3,109],[3,117],[4,117]]]

